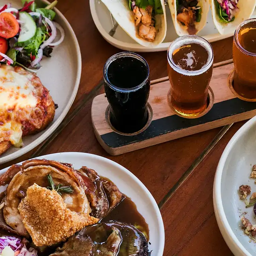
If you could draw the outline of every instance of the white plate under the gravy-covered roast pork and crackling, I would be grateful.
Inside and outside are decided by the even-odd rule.
[[[122,165],[97,155],[65,152],[38,157],[59,162],[72,163],[75,169],[87,166],[99,175],[109,178],[122,193],[129,196],[149,226],[149,251],[152,256],[162,256],[164,249],[164,226],[154,197],[143,183]],[[9,168],[9,167],[8,167]],[[0,171],[2,175],[8,168]]]

